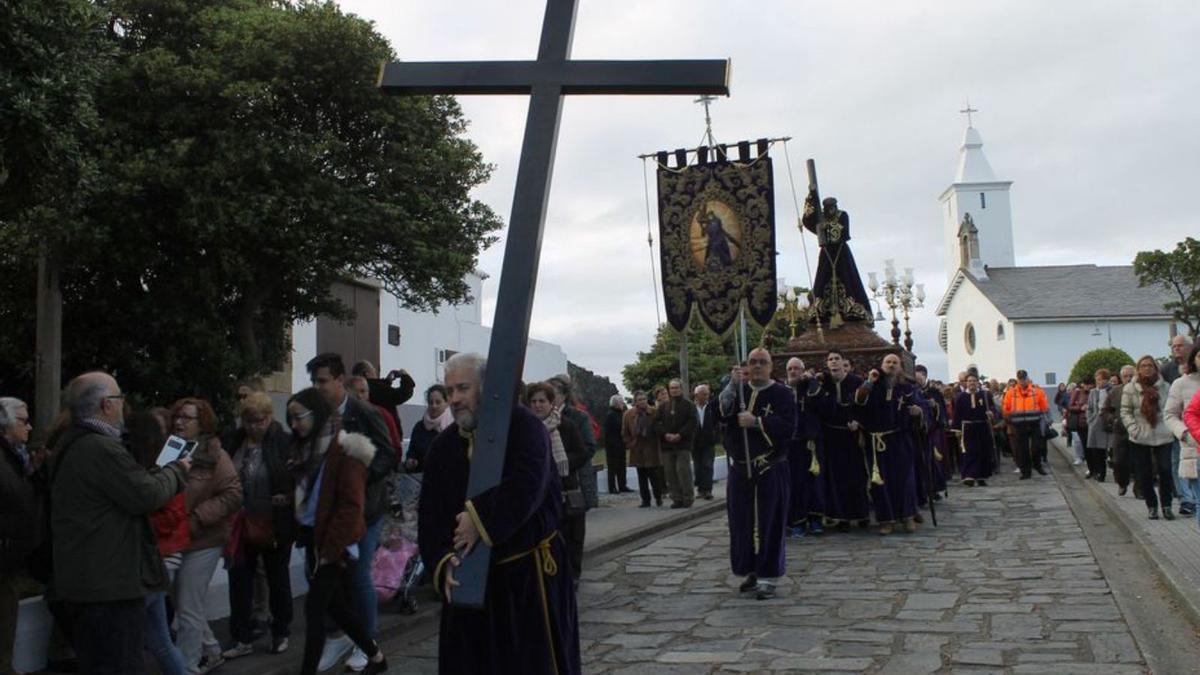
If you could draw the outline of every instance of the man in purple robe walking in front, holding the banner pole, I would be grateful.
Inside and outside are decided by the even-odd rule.
[[[730,562],[734,574],[745,577],[738,590],[754,591],[764,601],[775,597],[787,562],[784,542],[792,482],[787,442],[796,432],[796,399],[770,378],[766,348],[750,352],[746,365],[749,382],[734,366],[719,398],[730,462],[725,503]]]

